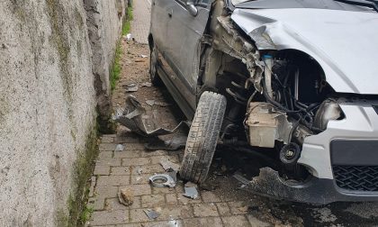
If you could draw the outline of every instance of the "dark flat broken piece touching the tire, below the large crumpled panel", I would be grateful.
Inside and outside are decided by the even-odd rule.
[[[187,136],[175,135],[172,139],[161,140],[156,138],[144,145],[147,150],[179,150],[186,145]]]

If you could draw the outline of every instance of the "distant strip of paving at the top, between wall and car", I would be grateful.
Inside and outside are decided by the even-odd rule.
[[[132,1],[133,21],[131,22],[131,34],[135,41],[148,43],[148,31],[151,14],[150,0]]]

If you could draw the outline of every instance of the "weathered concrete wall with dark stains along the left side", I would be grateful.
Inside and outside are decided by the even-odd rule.
[[[97,2],[102,54],[83,0],[0,1],[0,226],[54,226],[68,213],[74,165],[95,126],[94,60],[104,59],[100,86],[109,94],[125,8]]]

